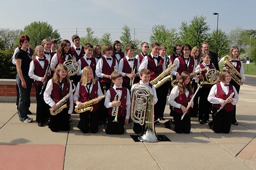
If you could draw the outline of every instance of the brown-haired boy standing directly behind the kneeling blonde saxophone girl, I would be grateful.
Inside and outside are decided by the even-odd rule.
[[[85,56],[83,56],[82,58],[79,59],[78,63],[79,63],[79,71],[77,72],[77,75],[82,75],[83,73],[83,69],[86,66],[90,66],[92,68],[92,73],[95,76],[95,70],[96,70],[96,63],[97,63],[97,59],[92,57],[92,51],[93,51],[93,46],[92,44],[85,44]]]

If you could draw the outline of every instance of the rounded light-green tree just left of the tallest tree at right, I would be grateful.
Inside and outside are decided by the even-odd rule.
[[[149,36],[150,43],[157,42],[167,47],[167,54],[171,54],[174,44],[179,36],[175,28],[167,29],[165,25],[154,25]]]

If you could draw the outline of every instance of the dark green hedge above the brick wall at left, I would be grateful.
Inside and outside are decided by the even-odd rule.
[[[16,66],[12,64],[12,50],[0,50],[0,78],[15,79]]]

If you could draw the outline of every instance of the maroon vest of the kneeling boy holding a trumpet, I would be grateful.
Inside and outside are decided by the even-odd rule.
[[[114,97],[117,95],[117,93],[113,87],[111,87],[109,89],[109,91],[110,91],[110,101],[114,101]],[[117,90],[117,92],[118,92],[118,90]],[[120,116],[125,117],[126,116],[126,113],[125,113],[126,95],[127,95],[127,88],[122,87],[122,96],[120,99],[121,106],[119,106],[117,117],[120,117]],[[113,110],[113,107],[108,108],[108,112],[110,115],[112,114],[112,110]]]

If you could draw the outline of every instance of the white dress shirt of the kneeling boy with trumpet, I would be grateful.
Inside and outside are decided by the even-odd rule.
[[[120,95],[120,97],[121,97],[122,96],[122,90],[116,90],[116,88],[122,88],[122,86],[117,87],[116,85],[114,85],[113,88],[116,91],[117,95]],[[125,110],[126,110],[125,119],[129,119],[130,109],[131,109],[131,99],[130,99],[129,90],[128,89],[126,89],[126,90],[127,90],[127,96],[126,96],[126,107],[125,107]],[[110,101],[110,97],[111,97],[110,90],[107,90],[105,103],[104,103],[105,107],[107,107],[107,108],[113,107],[112,104],[111,104],[112,101]]]

